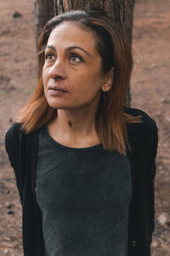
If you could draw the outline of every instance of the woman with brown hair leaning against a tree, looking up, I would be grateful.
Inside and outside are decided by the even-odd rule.
[[[99,10],[55,16],[39,81],[6,134],[26,256],[149,256],[157,129],[123,101],[132,56]]]

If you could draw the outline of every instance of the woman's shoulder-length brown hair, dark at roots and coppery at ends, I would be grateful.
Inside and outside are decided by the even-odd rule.
[[[126,154],[126,148],[129,147],[126,124],[140,121],[139,117],[125,113],[123,108],[126,88],[133,67],[131,48],[121,27],[101,10],[71,11],[54,16],[43,27],[38,40],[37,90],[31,102],[20,112],[17,122],[21,123],[22,128],[28,133],[48,124],[57,116],[57,109],[51,108],[44,96],[42,67],[48,37],[54,27],[63,21],[74,21],[84,29],[93,31],[97,36],[96,48],[102,58],[101,72],[107,73],[111,67],[114,67],[111,90],[107,93],[105,100],[102,95],[100,98],[96,115],[96,131],[105,149],[116,149],[119,153]]]

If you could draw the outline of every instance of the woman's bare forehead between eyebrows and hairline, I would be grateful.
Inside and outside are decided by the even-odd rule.
[[[74,21],[64,21],[54,27],[48,38],[48,45],[54,47],[79,46],[91,52],[97,52],[94,32],[79,26]]]

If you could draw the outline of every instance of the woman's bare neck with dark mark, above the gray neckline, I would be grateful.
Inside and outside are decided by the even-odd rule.
[[[99,143],[95,130],[98,105],[77,109],[58,109],[58,116],[48,125],[54,139],[71,147],[88,147]]]

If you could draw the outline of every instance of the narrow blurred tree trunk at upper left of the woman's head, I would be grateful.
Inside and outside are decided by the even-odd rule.
[[[34,0],[36,42],[42,27],[54,16],[54,0]]]

